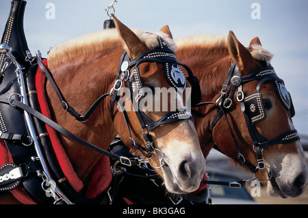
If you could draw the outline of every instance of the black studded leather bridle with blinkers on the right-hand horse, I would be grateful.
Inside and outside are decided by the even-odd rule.
[[[257,153],[257,167],[249,163],[249,161],[247,161],[241,154],[238,140],[235,138],[228,119],[227,124],[229,126],[229,130],[231,131],[233,141],[235,142],[235,145],[238,149],[239,161],[247,165],[253,173],[256,173],[258,169],[264,169],[266,167],[262,157],[262,151],[264,150],[264,148],[268,148],[269,146],[273,146],[275,144],[288,144],[292,141],[297,141],[300,139],[296,130],[287,131],[279,135],[278,137],[275,137],[274,139],[266,139],[266,137],[262,136],[255,127],[255,124],[257,122],[266,119],[266,109],[264,107],[264,102],[260,92],[261,85],[266,81],[274,82],[275,88],[277,90],[277,95],[279,96],[279,100],[281,100],[281,103],[283,104],[285,109],[287,109],[287,111],[290,111],[292,117],[295,115],[292,98],[290,96],[290,93],[287,92],[283,80],[277,76],[276,72],[274,71],[274,68],[270,65],[268,59],[266,57],[264,57],[264,59],[266,60],[266,66],[264,68],[254,70],[250,74],[243,77],[240,76],[238,67],[235,66],[234,62],[232,62],[231,67],[229,68],[229,72],[227,74],[227,79],[222,86],[221,95],[215,103],[218,106],[218,115],[216,115],[214,122],[211,124],[212,131],[220,118],[222,118],[222,115],[224,115],[224,117],[227,119],[227,109],[231,107],[235,90],[238,89],[238,92],[236,93],[236,99],[238,100],[238,102],[240,102],[246,126],[248,128],[249,135],[251,136],[251,139],[253,141],[253,150],[255,150],[255,152]],[[229,96],[227,96],[226,98],[225,95],[227,94],[230,81],[231,91],[229,93]],[[249,81],[259,81],[259,83],[257,84],[256,92],[254,92],[253,94],[246,95],[242,89],[242,85]],[[201,106],[205,104],[208,103],[200,103],[196,106]]]

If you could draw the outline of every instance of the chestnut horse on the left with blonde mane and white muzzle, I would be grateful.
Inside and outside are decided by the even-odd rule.
[[[101,94],[112,92],[110,90],[119,91],[121,86],[133,85],[127,82],[132,77],[136,79],[139,76],[141,83],[138,83],[138,79],[134,82],[144,87],[153,83],[155,87],[166,87],[167,89],[172,87],[164,73],[166,59],[160,61],[148,58],[153,50],[159,52],[161,47],[168,47],[168,58],[166,57],[168,62],[181,65],[176,61],[175,55],[170,52],[172,49],[175,50],[176,46],[168,34],[162,31],[159,31],[157,35],[140,30],[131,31],[116,17],[114,21],[116,29],[107,29],[71,40],[55,46],[49,53],[48,68],[55,83],[70,107],[80,114],[84,114]],[[118,69],[119,60],[123,54],[123,46],[128,53],[125,56],[127,59],[124,60],[127,60],[129,64],[131,60],[135,61],[132,61],[135,68],[131,69],[129,74],[127,69],[131,66],[127,63],[123,64],[121,73],[125,76],[116,80],[116,69]],[[162,51],[165,54],[166,50]],[[161,56],[164,58],[164,55]],[[142,63],[139,65],[140,57]],[[190,84],[187,83],[187,86],[189,87]],[[135,86],[135,89],[136,87],[138,86]],[[177,95],[175,89],[172,90],[170,98],[172,95]],[[205,159],[198,143],[194,123],[190,119],[192,118],[190,113],[187,112],[189,118],[184,119],[179,118],[178,110],[125,111],[122,113],[115,104],[111,116],[112,106],[108,97],[109,99],[103,100],[95,109],[87,122],[79,122],[70,113],[61,109],[62,105],[57,94],[48,81],[46,92],[53,120],[60,126],[103,150],[107,150],[118,133],[124,143],[131,148],[131,152],[149,157],[151,164],[157,167],[157,173],[162,176],[166,189],[170,193],[190,193],[198,189],[205,173]],[[168,98],[169,102],[170,98]],[[133,100],[130,103],[133,107]],[[168,102],[161,104],[166,103]],[[168,122],[166,122],[166,115],[170,118]],[[140,125],[140,116],[145,120],[144,123],[149,123],[151,120],[151,125],[154,127],[149,129]],[[153,120],[158,121],[159,124]],[[84,185],[87,185],[92,169],[98,163],[101,154],[79,146],[62,134],[59,138],[78,178],[84,182]],[[145,142],[146,145],[144,145]],[[137,145],[141,145],[143,149],[141,152],[140,148],[136,148]],[[129,165],[127,159],[122,161],[123,164]],[[3,199],[3,197],[1,193],[0,198]]]

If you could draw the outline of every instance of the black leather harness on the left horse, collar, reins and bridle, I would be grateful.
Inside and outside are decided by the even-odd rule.
[[[138,66],[144,62],[157,62],[164,64],[165,76],[167,81],[178,90],[184,92],[186,85],[186,78],[183,77],[180,66],[183,66],[188,71],[188,81],[196,81],[196,77],[188,66],[177,62],[175,53],[168,49],[166,42],[157,36],[159,41],[159,49],[146,51],[136,59],[130,60],[127,53],[124,52],[121,59],[118,72],[116,74],[116,81],[114,82],[110,93],[103,94],[99,97],[93,105],[88,109],[84,115],[80,115],[70,107],[64,96],[57,87],[49,70],[42,64],[42,57],[37,51],[36,57],[32,57],[27,48],[27,43],[24,38],[23,31],[18,31],[23,27],[23,12],[25,10],[25,1],[13,1],[10,17],[7,23],[6,32],[3,35],[4,40],[0,45],[1,55],[1,96],[0,96],[0,138],[5,140],[5,144],[12,154],[14,164],[5,164],[0,167],[0,191],[10,191],[15,189],[18,185],[22,185],[23,189],[36,202],[44,204],[107,204],[112,203],[118,192],[118,180],[120,177],[114,175],[110,189],[103,196],[97,200],[88,199],[79,195],[70,187],[67,180],[63,179],[61,169],[53,160],[53,151],[49,143],[45,141],[44,137],[39,134],[45,134],[44,124],[51,126],[55,131],[62,133],[62,135],[73,139],[78,144],[86,146],[100,154],[108,156],[114,161],[118,161],[125,167],[139,167],[141,164],[149,163],[149,159],[143,159],[138,156],[121,156],[113,152],[103,150],[88,141],[77,137],[77,135],[70,133],[53,120],[47,118],[40,113],[36,98],[34,98],[35,90],[31,89],[33,83],[31,81],[32,68],[40,67],[42,72],[46,75],[55,90],[57,97],[62,103],[62,107],[73,115],[80,122],[86,122],[94,110],[98,107],[103,99],[107,96],[112,96],[111,104],[112,110],[114,104],[118,99],[118,91],[123,83],[127,83],[127,87],[131,90],[131,101],[136,106],[142,96],[142,83],[140,80],[140,72]],[[21,13],[21,14],[19,14]],[[13,18],[12,18],[13,17]],[[17,25],[14,17],[18,17]],[[19,35],[18,35],[19,34]],[[23,40],[18,40],[23,39]],[[8,45],[10,44],[10,46]],[[27,51],[25,53],[25,51]],[[23,57],[24,56],[24,57]],[[5,63],[8,64],[5,64]],[[14,66],[15,68],[14,68]],[[12,67],[13,66],[13,67]],[[131,68],[133,68],[131,70]],[[29,69],[26,71],[25,69]],[[25,79],[25,74],[27,77]],[[177,85],[177,83],[181,85]],[[134,92],[133,87],[138,87]],[[200,90],[200,87],[198,87]],[[195,89],[192,92],[198,92]],[[6,97],[3,94],[6,93]],[[138,98],[136,98],[138,96]],[[113,114],[113,112],[111,111]],[[146,129],[147,133],[143,132],[145,146],[140,146],[129,137],[133,146],[136,146],[142,154],[146,157],[151,157],[155,148],[153,148],[151,139],[151,130],[168,124],[170,122],[177,122],[183,119],[192,119],[190,111],[177,109],[166,113],[159,120],[153,121],[143,111],[136,110],[138,120],[142,126],[142,130]],[[127,128],[129,129],[129,120],[126,112],[123,112]],[[8,122],[8,120],[10,122]],[[129,129],[129,134],[130,129]],[[12,176],[12,174],[14,176]],[[8,176],[7,176],[8,175]],[[4,176],[4,177],[3,177]],[[8,178],[8,179],[7,179]],[[5,181],[4,181],[5,180]],[[56,182],[55,182],[56,181]],[[51,187],[51,195],[46,195],[47,182]],[[39,187],[42,187],[40,189]],[[52,197],[50,197],[52,196]]]

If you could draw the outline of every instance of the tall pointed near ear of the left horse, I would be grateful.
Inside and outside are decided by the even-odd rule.
[[[129,57],[134,59],[141,53],[148,51],[148,47],[136,36],[131,29],[121,23],[114,14],[112,14],[114,18],[114,23],[116,25],[116,29],[118,29],[118,34],[122,39],[123,45],[125,46],[125,50],[129,53]]]

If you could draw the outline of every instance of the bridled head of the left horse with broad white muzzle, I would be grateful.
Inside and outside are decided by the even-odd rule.
[[[168,77],[170,70],[176,67],[177,77],[173,81],[185,80],[179,76],[179,63],[171,52],[172,46],[175,47],[172,34],[165,26],[158,35],[143,33],[138,36],[115,16],[114,21],[129,55],[122,69],[126,83],[123,81],[121,90],[130,99],[121,102],[122,97],[118,100],[118,107],[114,107],[116,132],[130,146],[131,152],[151,159],[157,173],[164,178],[168,191],[192,192],[198,189],[205,173],[205,160],[190,112],[185,109],[183,95]],[[160,58],[164,60],[160,61]],[[181,87],[183,92],[184,89]],[[167,94],[167,97],[160,98],[161,94]],[[119,107],[119,103],[123,107]],[[176,103],[178,107],[172,111],[170,108]],[[162,109],[166,105],[169,105],[168,109]]]

